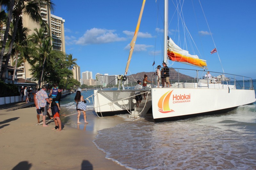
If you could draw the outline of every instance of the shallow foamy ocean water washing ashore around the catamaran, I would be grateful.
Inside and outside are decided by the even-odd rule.
[[[82,94],[86,98],[93,91]],[[74,100],[75,94],[63,106],[74,108],[68,97]],[[92,101],[88,106],[93,108]],[[128,169],[256,169],[256,102],[173,122],[119,116],[127,122],[99,130],[93,142],[107,159]]]

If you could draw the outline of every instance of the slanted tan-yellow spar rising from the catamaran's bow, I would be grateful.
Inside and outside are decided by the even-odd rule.
[[[142,6],[141,6],[141,10],[140,10],[140,16],[139,16],[138,23],[137,23],[137,26],[136,26],[136,29],[135,29],[135,33],[134,33],[134,36],[133,36],[132,41],[131,41],[131,43],[130,43],[131,49],[130,49],[128,61],[127,61],[127,63],[126,63],[126,68],[125,68],[125,72],[124,72],[124,77],[125,77],[125,75],[126,75],[127,72],[128,72],[129,65],[130,65],[130,62],[131,62],[131,59],[132,59],[132,52],[133,52],[133,48],[134,48],[134,46],[135,46],[135,42],[136,42],[137,35],[138,35],[138,32],[139,32],[140,20],[141,20],[142,13],[143,13],[143,10],[144,10],[145,2],[146,2],[146,0],[143,0]],[[166,51],[166,54],[167,54],[167,51]]]

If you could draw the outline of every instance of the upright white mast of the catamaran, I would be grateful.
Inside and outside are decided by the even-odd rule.
[[[167,63],[168,0],[164,0],[164,62]]]

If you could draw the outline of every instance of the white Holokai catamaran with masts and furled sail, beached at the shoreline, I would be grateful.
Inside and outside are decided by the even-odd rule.
[[[203,70],[174,68],[176,71],[170,73],[172,87],[156,88],[156,85],[152,85],[151,88],[140,90],[141,93],[147,94],[147,98],[143,99],[139,107],[137,107],[134,92],[138,90],[126,90],[124,81],[126,80],[133,48],[139,32],[145,2],[146,0],[143,0],[134,37],[130,43],[131,50],[124,77],[119,77],[118,90],[100,89],[94,91],[94,106],[98,115],[127,111],[132,117],[144,116],[152,108],[153,118],[158,122],[227,113],[238,106],[255,102],[252,78],[212,71],[211,73],[219,74],[222,77],[200,78],[199,75],[204,74],[205,69],[207,69],[206,61],[199,59],[197,55],[190,55],[188,51],[176,45],[171,38],[167,38],[168,0],[165,0],[164,62],[168,63],[167,61],[171,60],[173,62],[186,63],[203,68]],[[184,74],[188,76],[182,78]]]

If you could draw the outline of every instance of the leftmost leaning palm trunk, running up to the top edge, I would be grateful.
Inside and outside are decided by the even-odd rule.
[[[5,32],[4,32],[4,40],[2,41],[3,44],[2,44],[1,53],[0,53],[0,76],[1,77],[2,77],[1,72],[2,72],[2,62],[3,62],[3,56],[4,56],[4,49],[5,49],[5,45],[6,45],[7,35],[9,33],[9,29],[10,29],[13,6],[14,6],[14,0],[10,0],[10,6],[9,6],[9,11],[8,11],[8,17],[7,17],[7,24],[6,24],[6,29],[5,29]],[[4,78],[5,78],[5,72],[3,74],[4,74]]]

